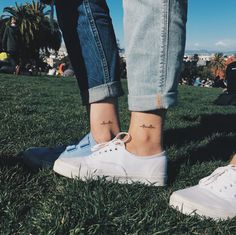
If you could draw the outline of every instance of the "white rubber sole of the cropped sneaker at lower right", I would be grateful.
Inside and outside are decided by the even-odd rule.
[[[227,214],[226,210],[216,210],[215,208],[206,208],[197,203],[188,201],[186,200],[186,198],[182,198],[175,192],[170,196],[169,205],[185,215],[190,215],[190,216],[198,215],[216,221],[227,220],[235,217],[235,215]]]

